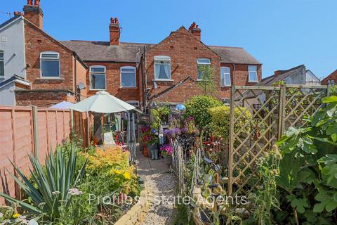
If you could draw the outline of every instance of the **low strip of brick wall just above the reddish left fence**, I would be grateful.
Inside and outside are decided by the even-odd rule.
[[[50,107],[67,100],[67,91],[15,91],[15,101],[18,106]]]

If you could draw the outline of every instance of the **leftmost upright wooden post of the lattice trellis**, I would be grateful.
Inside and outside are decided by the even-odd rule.
[[[234,109],[235,109],[235,86],[230,87],[230,137],[228,149],[228,195],[232,195],[233,184],[233,155],[234,150]]]

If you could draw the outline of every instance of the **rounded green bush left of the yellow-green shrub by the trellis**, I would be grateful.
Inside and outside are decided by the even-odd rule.
[[[186,115],[193,117],[197,126],[204,129],[211,124],[209,109],[220,105],[223,105],[223,103],[212,96],[194,96],[185,104]]]

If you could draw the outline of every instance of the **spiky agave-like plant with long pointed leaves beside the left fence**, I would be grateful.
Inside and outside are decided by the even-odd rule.
[[[0,193],[0,196],[6,198],[10,203],[20,205],[29,214],[44,214],[50,219],[60,217],[59,207],[67,207],[70,203],[70,198],[72,198],[74,186],[77,185],[81,176],[84,175],[87,161],[77,171],[77,152],[78,148],[75,145],[71,146],[70,153],[67,153],[64,147],[59,146],[55,150],[55,155],[51,151],[46,156],[45,168],[41,165],[38,158],[29,155],[33,168],[29,168],[32,174],[30,180],[18,166],[11,162],[21,179],[13,174],[11,176],[22,188],[22,191],[27,194],[32,204],[16,200],[5,193]]]

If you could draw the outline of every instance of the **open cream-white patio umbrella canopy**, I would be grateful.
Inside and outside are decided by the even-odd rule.
[[[134,110],[135,107],[112,96],[107,91],[98,91],[94,96],[72,106],[72,110],[94,113],[121,113]]]

